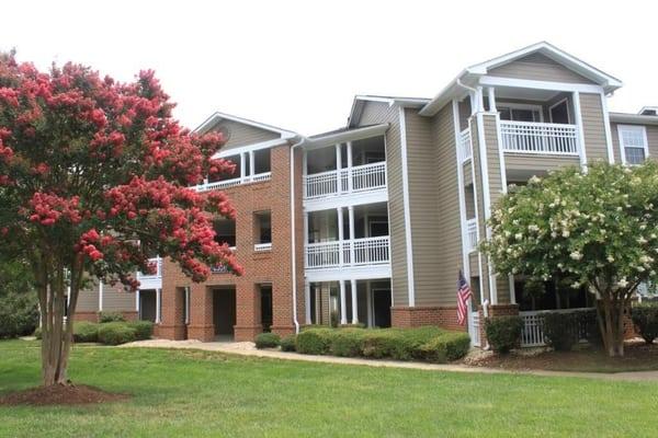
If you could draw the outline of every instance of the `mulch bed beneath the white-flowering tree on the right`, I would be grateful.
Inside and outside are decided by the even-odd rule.
[[[476,367],[510,370],[555,370],[619,372],[634,370],[658,370],[658,344],[646,345],[644,341],[627,341],[624,357],[608,357],[602,349],[588,345],[576,346],[572,351],[554,351],[549,348],[524,348],[508,355],[478,351],[467,356],[463,362]]]

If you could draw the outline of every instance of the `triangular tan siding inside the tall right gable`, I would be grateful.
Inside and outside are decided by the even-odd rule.
[[[541,54],[532,54],[488,71],[489,76],[534,81],[593,83]]]

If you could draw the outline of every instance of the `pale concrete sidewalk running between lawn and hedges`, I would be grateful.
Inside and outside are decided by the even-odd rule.
[[[149,339],[124,344],[122,348],[148,347],[148,348],[179,348],[179,349],[198,349],[205,351],[218,351],[231,355],[264,357],[282,360],[300,360],[306,362],[338,364],[338,365],[360,365],[367,367],[384,368],[407,368],[428,371],[449,371],[449,372],[477,372],[485,374],[521,374],[521,376],[541,376],[541,377],[577,377],[599,380],[619,380],[619,381],[655,381],[658,382],[658,371],[633,371],[633,372],[571,372],[571,371],[544,371],[544,370],[504,370],[498,368],[469,367],[466,365],[440,365],[416,361],[398,360],[373,360],[352,357],[336,356],[315,356],[302,355],[298,353],[285,353],[274,349],[257,349],[253,343],[229,343],[214,342],[202,343],[198,341],[168,341]]]

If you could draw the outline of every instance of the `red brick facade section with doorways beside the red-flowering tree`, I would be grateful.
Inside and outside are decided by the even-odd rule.
[[[160,337],[213,341],[215,338],[214,288],[235,287],[236,341],[252,341],[263,331],[259,285],[272,286],[272,332],[294,333],[293,275],[291,253],[290,146],[271,149],[271,180],[230,187],[226,193],[237,210],[236,256],[245,275],[212,274],[204,284],[193,284],[177,265],[164,261],[162,268],[162,318],[156,330]],[[297,318],[304,315],[304,262],[302,216],[302,155],[295,155],[295,227]],[[271,211],[272,250],[254,252],[254,212]],[[184,321],[184,288],[190,287],[190,320]]]

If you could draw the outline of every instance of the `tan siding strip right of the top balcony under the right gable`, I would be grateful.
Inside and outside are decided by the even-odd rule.
[[[601,95],[580,93],[580,114],[582,115],[585,153],[588,163],[597,160],[608,161],[608,142],[605,141]]]

